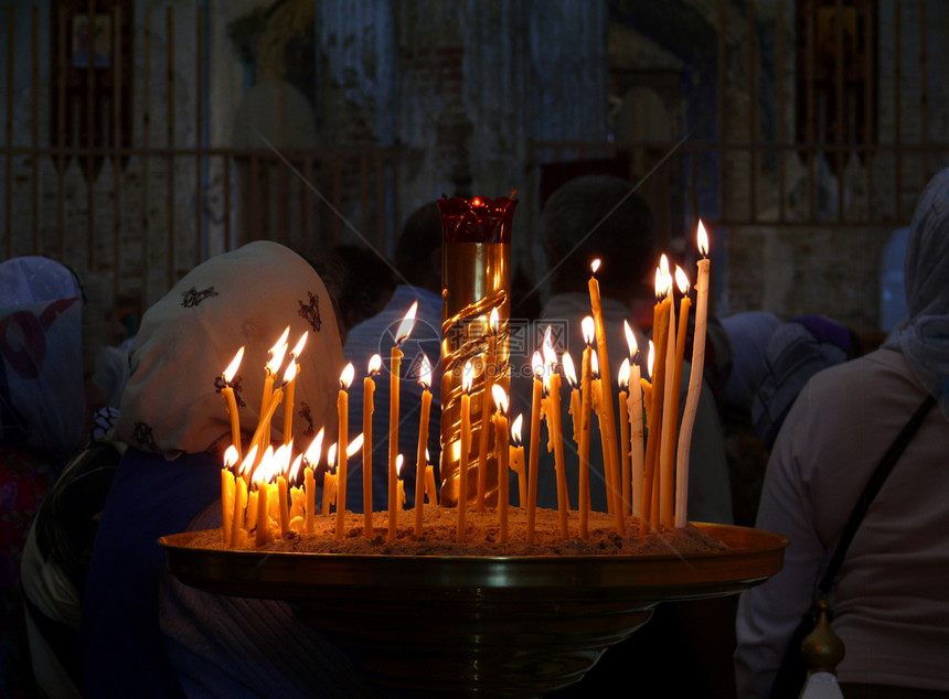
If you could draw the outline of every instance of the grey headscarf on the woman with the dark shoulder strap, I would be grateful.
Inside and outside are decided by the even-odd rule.
[[[949,168],[926,185],[906,247],[909,316],[886,346],[898,347],[949,418]]]

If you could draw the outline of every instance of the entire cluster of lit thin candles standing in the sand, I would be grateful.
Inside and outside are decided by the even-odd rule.
[[[692,369],[686,392],[686,402],[679,424],[679,397],[684,365],[685,334],[692,302],[689,297],[686,275],[679,267],[675,281],[682,298],[676,323],[673,302],[673,276],[663,255],[655,272],[657,303],[653,311],[653,340],[650,341],[648,372],[651,377],[640,377],[636,362],[638,346],[628,323],[625,331],[629,344],[629,356],[623,358],[618,381],[618,395],[611,390],[609,377],[609,356],[607,352],[606,327],[603,318],[599,283],[596,271],[599,260],[594,260],[589,279],[591,315],[584,319],[583,332],[586,347],[583,353],[580,379],[569,353],[565,352],[562,363],[551,340],[547,327],[541,351],[532,359],[533,390],[531,402],[530,463],[525,465],[524,447],[521,443],[523,416],[518,416],[509,426],[509,401],[502,386],[491,377],[499,375],[497,364],[497,338],[499,319],[497,309],[492,311],[487,333],[480,431],[480,450],[477,462],[477,493],[473,501],[478,510],[484,508],[487,482],[488,427],[494,433],[494,454],[499,469],[498,520],[499,541],[508,540],[509,470],[514,471],[519,484],[519,503],[526,509],[526,540],[534,541],[537,497],[537,469],[541,449],[541,422],[547,427],[547,449],[554,453],[557,484],[557,510],[562,538],[569,536],[569,497],[565,472],[564,440],[562,437],[563,418],[561,406],[561,369],[569,386],[569,409],[573,418],[573,439],[577,445],[579,465],[578,526],[577,535],[589,536],[588,519],[590,512],[590,427],[595,415],[600,427],[604,481],[609,516],[616,531],[626,535],[626,519],[639,518],[640,533],[650,529],[684,527],[686,524],[686,492],[689,483],[689,461],[692,428],[699,405],[704,364],[705,329],[708,304],[710,260],[707,258],[708,238],[702,223],[699,223],[697,246],[702,259],[697,262],[695,327],[693,337]],[[404,356],[402,344],[412,332],[417,303],[413,304],[403,319],[391,353],[390,374],[390,431],[388,431],[388,539],[397,535],[397,514],[402,510],[405,494],[402,484],[401,464],[404,462],[398,452],[399,380],[401,359]],[[279,372],[287,352],[289,327],[269,351],[265,366],[265,385],[260,417],[252,438],[248,453],[241,453],[241,428],[232,380],[241,364],[244,348],[238,350],[232,364],[223,374],[223,395],[231,415],[233,444],[224,458],[222,470],[222,515],[225,546],[241,547],[249,541],[255,531],[256,545],[263,545],[282,537],[288,530],[312,534],[317,515],[314,471],[320,464],[323,430],[317,434],[310,447],[294,458],[292,445],[292,402],[294,384],[299,373],[297,358],[306,343],[306,333],[290,352],[290,359],[282,383],[275,389],[274,377]],[[349,388],[354,369],[348,364],[340,376],[340,390],[337,401],[339,417],[339,440],[327,451],[327,472],[322,484],[322,503],[319,513],[328,516],[335,504],[335,537],[344,536],[344,515],[346,503],[346,466],[351,456],[362,450],[364,536],[373,537],[372,524],[372,416],[374,411],[374,377],[380,373],[382,361],[373,355],[364,378],[363,390],[363,433],[350,443],[349,434]],[[653,368],[654,367],[654,368]],[[460,463],[456,540],[465,541],[467,510],[469,507],[467,464],[471,451],[471,387],[474,366],[469,359],[462,369]],[[431,368],[428,358],[423,356],[418,381],[423,387],[422,415],[419,420],[418,445],[416,454],[415,529],[416,537],[423,536],[423,513],[425,502],[437,506],[434,467],[428,463],[428,421],[431,406]],[[274,449],[269,443],[270,420],[280,404],[285,401],[284,443]],[[619,437],[616,434],[616,413],[614,401],[619,406]],[[492,409],[493,406],[493,409]],[[676,438],[678,435],[678,438]],[[345,444],[345,449],[342,445]],[[338,447],[339,445],[339,447]],[[334,473],[332,469],[335,469]],[[303,472],[302,487],[292,486]]]

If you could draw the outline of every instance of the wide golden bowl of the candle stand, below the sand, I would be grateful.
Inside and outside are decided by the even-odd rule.
[[[682,556],[385,556],[210,549],[162,537],[206,592],[287,601],[359,670],[407,696],[534,697],[579,681],[661,602],[734,594],[781,569],[786,537],[696,524]],[[403,695],[398,695],[403,696]]]

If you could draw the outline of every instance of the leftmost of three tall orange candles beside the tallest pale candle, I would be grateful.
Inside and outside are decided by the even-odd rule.
[[[643,518],[640,531],[646,534],[650,525],[658,524],[659,515],[659,490],[658,490],[658,462],[659,443],[662,440],[662,386],[665,378],[665,344],[669,336],[669,307],[670,300],[665,298],[665,279],[661,270],[655,270],[655,295],[660,301],[653,309],[652,335],[654,350],[650,353],[654,356],[652,372],[652,400],[647,415],[648,438],[646,442],[646,465],[643,466],[642,487],[642,512]],[[653,507],[654,503],[654,507]]]

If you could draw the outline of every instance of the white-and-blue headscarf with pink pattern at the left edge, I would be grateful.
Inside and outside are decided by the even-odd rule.
[[[83,300],[45,257],[0,264],[0,439],[64,462],[82,447]]]

